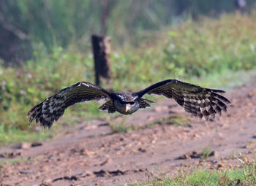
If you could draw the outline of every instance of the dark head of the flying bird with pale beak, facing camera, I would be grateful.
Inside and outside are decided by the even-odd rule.
[[[114,105],[116,110],[124,115],[132,114],[140,107],[138,96],[132,93],[118,93]]]

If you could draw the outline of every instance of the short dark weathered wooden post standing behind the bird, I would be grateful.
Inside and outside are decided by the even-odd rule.
[[[109,82],[111,77],[110,72],[110,36],[91,36],[92,50],[94,53],[94,70],[95,84],[99,85],[99,77],[105,78]]]

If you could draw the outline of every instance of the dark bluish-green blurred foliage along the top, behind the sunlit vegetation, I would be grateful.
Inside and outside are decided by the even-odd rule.
[[[247,12],[254,3],[246,0]],[[235,0],[1,0],[4,21],[0,21],[0,30],[3,26],[25,39],[17,32],[21,31],[29,42],[43,44],[49,51],[70,43],[84,50],[91,34],[114,36],[116,45],[138,43],[148,37],[147,31],[159,31],[200,15],[217,18],[235,9]]]

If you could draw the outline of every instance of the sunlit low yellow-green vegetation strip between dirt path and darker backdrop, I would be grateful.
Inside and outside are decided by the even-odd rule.
[[[114,50],[110,55],[111,88],[139,90],[173,78],[200,81],[200,85],[206,85],[209,80],[213,82],[211,85],[223,86],[228,74],[256,66],[255,19],[256,14],[252,12],[251,15],[222,15],[219,19],[200,18],[196,22],[187,20],[167,31],[159,31],[157,36],[152,34],[151,40],[138,47],[127,45]],[[70,46],[65,50],[54,47],[49,55],[44,48],[38,44],[34,59],[23,66],[0,66],[0,136],[8,136],[13,130],[37,133],[34,127],[29,127],[26,118],[31,106],[76,82],[94,82],[91,53],[81,53],[77,47]],[[97,107],[99,104],[94,102],[76,104],[66,110],[61,120],[76,123],[107,115]]]

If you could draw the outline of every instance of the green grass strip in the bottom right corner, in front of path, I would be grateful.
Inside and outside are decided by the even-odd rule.
[[[256,185],[255,163],[247,163],[240,168],[221,170],[195,170],[191,174],[181,171],[177,177],[157,177],[133,186],[200,186],[200,185]],[[132,186],[131,185],[131,186]]]

